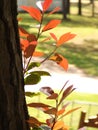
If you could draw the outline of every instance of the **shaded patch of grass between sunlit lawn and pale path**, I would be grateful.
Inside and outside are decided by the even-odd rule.
[[[46,50],[47,54],[53,49],[52,47],[52,45],[43,43],[43,46],[39,45],[38,49]],[[98,41],[85,40],[82,45],[66,43],[58,49],[58,52],[66,57],[70,64],[82,69],[88,76],[98,76]]]

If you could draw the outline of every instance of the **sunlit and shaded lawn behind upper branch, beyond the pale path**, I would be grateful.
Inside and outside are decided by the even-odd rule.
[[[37,33],[37,29],[34,28],[38,24],[36,21],[26,13],[20,13],[19,17],[23,18],[23,21],[20,22],[21,26],[30,33]],[[44,23],[54,18],[62,19],[62,14],[51,15],[45,19]],[[41,39],[49,36],[49,32],[54,32],[58,37],[66,32],[77,34],[74,39],[64,44],[58,52],[66,57],[70,64],[82,69],[88,76],[96,77],[98,76],[98,19],[77,15],[69,15],[68,18],[67,21],[62,20],[57,28],[43,33]],[[52,43],[39,43],[37,49],[44,51],[47,55],[53,49]]]

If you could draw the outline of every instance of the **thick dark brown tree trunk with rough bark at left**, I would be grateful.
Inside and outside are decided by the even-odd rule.
[[[17,1],[0,0],[0,130],[29,130]]]

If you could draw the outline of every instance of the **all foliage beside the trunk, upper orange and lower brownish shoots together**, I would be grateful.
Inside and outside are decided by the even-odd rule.
[[[45,33],[46,31],[55,28],[57,25],[61,23],[61,20],[52,19],[48,21],[46,24],[43,24],[43,21],[45,19],[44,14],[48,10],[51,4],[52,4],[52,0],[44,0],[43,2],[42,1],[37,2],[38,8],[34,8],[31,6],[21,6],[21,8],[24,11],[26,11],[33,19],[35,19],[38,22],[38,25],[36,26],[37,28],[36,35],[33,33],[27,32],[24,28],[19,26],[20,43],[21,43],[21,49],[22,49],[22,54],[23,54],[24,81],[25,81],[25,84],[28,84],[28,85],[37,84],[41,80],[41,76],[50,76],[49,72],[34,70],[34,68],[39,67],[46,60],[52,60],[56,62],[58,65],[63,67],[64,70],[66,71],[68,69],[67,59],[64,58],[61,54],[58,54],[57,49],[60,48],[60,46],[62,46],[67,41],[74,38],[76,35],[72,34],[71,32],[67,32],[58,38],[56,34],[51,32],[49,34],[49,37],[46,37],[41,42],[39,40],[42,33]],[[59,9],[60,9],[59,7],[56,7],[51,12],[49,12],[46,17],[49,17],[50,15],[52,15]],[[19,18],[19,20],[22,20],[22,19]],[[33,57],[44,56],[43,52],[36,51],[38,44],[39,43],[42,44],[43,42],[47,42],[51,39],[53,39],[55,43],[53,51],[50,52],[49,55],[46,58],[44,58],[44,60],[40,62],[34,62]],[[45,104],[45,103],[32,102],[30,104],[27,104],[28,107],[40,109],[45,114],[48,114],[50,116],[49,119],[46,119],[46,122],[41,122],[35,117],[30,117],[27,122],[33,128],[33,130],[35,129],[42,130],[43,127],[45,127],[43,125],[48,126],[49,128],[51,128],[51,130],[68,130],[68,126],[65,125],[64,122],[61,121],[60,119],[70,114],[71,112],[79,109],[79,107],[74,108],[69,111],[66,111],[66,107],[68,106],[69,103],[65,103],[61,107],[61,104],[64,101],[64,99],[74,90],[73,85],[65,89],[66,84],[67,82],[64,84],[64,86],[62,87],[59,93],[55,93],[54,90],[50,87],[42,87],[40,89],[40,91],[47,96],[47,100],[55,101],[55,107]],[[34,93],[32,94],[31,92],[26,92],[26,95],[32,97]]]

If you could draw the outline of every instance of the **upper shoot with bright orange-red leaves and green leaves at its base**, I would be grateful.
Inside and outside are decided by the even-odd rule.
[[[44,14],[51,4],[52,4],[52,0],[45,0],[44,2],[41,1],[37,2],[38,8],[34,8],[31,6],[21,6],[21,8],[24,11],[26,11],[33,19],[35,19],[38,22],[38,25],[36,27],[37,28],[36,35],[33,33],[30,34],[24,28],[19,26],[20,43],[21,43],[21,49],[23,53],[23,65],[24,65],[23,68],[24,68],[25,84],[37,84],[40,81],[42,76],[40,75],[41,72],[35,74],[32,71],[34,70],[35,67],[39,67],[46,60],[53,60],[61,67],[63,67],[65,70],[68,69],[67,59],[62,55],[58,54],[56,51],[58,48],[60,48],[62,44],[66,43],[68,40],[71,40],[76,36],[71,32],[65,33],[59,38],[57,38],[57,36],[54,33],[50,33],[49,34],[50,36],[43,39],[43,41],[41,41],[41,44],[43,42],[47,42],[53,39],[55,43],[53,51],[44,60],[40,62],[32,62],[32,57],[44,56],[44,52],[36,51],[36,48],[40,43],[39,39],[42,33],[55,28],[58,24],[61,23],[61,20],[52,19],[48,21],[45,25],[43,24],[43,21],[45,19]],[[49,17],[59,9],[60,9],[59,7],[56,7],[53,11],[49,12],[46,17]],[[22,18],[20,18],[20,20],[22,20]],[[43,75],[46,76],[46,73],[43,72]],[[38,79],[38,80],[34,82],[33,79]]]

